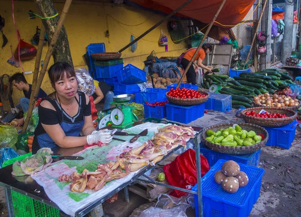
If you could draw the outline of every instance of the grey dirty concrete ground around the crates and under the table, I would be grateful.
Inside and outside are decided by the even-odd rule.
[[[236,110],[229,113],[208,111],[204,117],[190,123],[191,126],[208,127],[219,123],[242,122],[235,116]],[[262,177],[260,196],[253,205],[250,217],[296,217],[301,216],[301,131],[298,126],[290,149],[264,146],[261,149],[260,167],[265,170]],[[104,212],[109,217],[138,217],[140,212],[154,206],[148,200],[130,193],[130,202],[124,201],[123,190],[118,200],[104,203]],[[195,216],[194,209],[186,212]],[[0,188],[0,217],[7,217],[4,191]]]

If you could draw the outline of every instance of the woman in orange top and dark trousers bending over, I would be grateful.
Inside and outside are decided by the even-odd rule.
[[[184,70],[187,68],[196,50],[197,48],[191,48],[185,52],[183,59],[181,61]],[[208,54],[210,51],[212,51],[212,46],[210,44],[204,44],[194,59],[194,61],[198,61],[197,64],[199,67],[201,67],[202,69],[206,69],[208,72],[211,72],[211,69],[204,66],[202,62],[205,59],[206,54]],[[193,68],[193,64],[191,64],[190,68],[188,69],[186,77],[187,77],[187,83],[196,84],[197,74],[195,69]]]

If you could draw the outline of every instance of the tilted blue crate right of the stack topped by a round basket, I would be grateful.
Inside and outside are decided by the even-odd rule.
[[[146,82],[146,74],[143,70],[127,64],[116,72],[119,84],[140,84]]]

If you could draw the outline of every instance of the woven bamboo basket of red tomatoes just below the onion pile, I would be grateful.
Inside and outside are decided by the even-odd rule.
[[[264,109],[268,113],[279,113],[279,114],[286,114],[287,118],[260,118],[260,117],[252,117],[246,115],[247,111],[255,111],[255,113],[260,112]],[[255,107],[255,108],[247,108],[240,111],[242,118],[251,124],[255,124],[262,127],[281,127],[293,122],[297,118],[297,113],[295,111],[285,109],[285,108],[278,108],[278,107]]]

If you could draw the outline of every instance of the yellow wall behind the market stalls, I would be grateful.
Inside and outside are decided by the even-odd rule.
[[[24,41],[31,43],[32,37],[36,33],[36,27],[41,27],[41,20],[36,18],[35,20],[28,20],[29,10],[38,13],[34,2],[27,1],[14,1],[15,3],[15,19],[20,32],[21,38]],[[60,13],[63,8],[63,3],[54,3],[56,10]],[[126,30],[121,28],[116,21],[108,16],[108,27],[110,38],[105,37],[106,28],[106,14],[111,15],[114,19],[127,25],[137,25],[146,21],[145,23],[130,27],[124,26]],[[16,72],[22,72],[21,67],[7,63],[7,60],[11,57],[10,45],[13,46],[13,52],[18,47],[18,39],[15,31],[15,26],[12,18],[12,1],[2,0],[0,7],[0,15],[5,18],[6,26],[3,29],[4,34],[8,38],[9,42],[4,49],[0,50],[0,74],[7,73],[13,75]],[[130,42],[130,33],[139,36],[144,33],[150,27],[158,23],[163,16],[156,15],[152,12],[141,11],[126,5],[116,5],[109,3],[95,3],[95,2],[74,2],[72,3],[64,26],[67,30],[71,55],[75,68],[86,67],[86,63],[83,59],[83,55],[87,51],[87,45],[90,43],[105,43],[107,52],[117,52]],[[169,52],[165,52],[164,46],[159,46],[158,41],[160,37],[160,29],[169,37],[167,31],[167,22],[160,27],[146,35],[143,39],[148,41],[139,40],[137,50],[132,53],[130,48],[122,52],[124,65],[130,63],[141,69],[144,64],[142,61],[146,60],[146,57],[155,50],[157,57],[161,56],[179,56],[185,51],[185,44],[181,43],[175,45],[172,43],[169,37]],[[130,33],[129,33],[130,32]],[[149,42],[154,41],[154,42]],[[0,37],[0,45],[2,45],[2,37]],[[45,58],[48,46],[43,48],[42,60]],[[51,60],[48,67],[53,64]],[[35,65],[35,58],[27,61],[23,61],[22,65],[25,71],[33,71]],[[32,83],[32,75],[25,75],[27,81]],[[45,75],[42,88],[47,94],[53,92],[50,85],[48,76]],[[18,103],[23,93],[14,89],[14,102]],[[5,108],[8,109],[8,103],[5,103]]]

